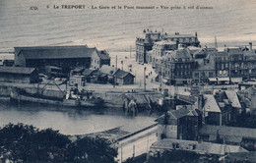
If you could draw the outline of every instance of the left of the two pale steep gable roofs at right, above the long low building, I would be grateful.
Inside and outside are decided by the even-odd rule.
[[[214,97],[214,95],[212,94],[204,94],[204,98],[205,100],[205,105],[203,107],[203,109],[206,112],[216,112],[216,113],[221,113],[221,109]]]

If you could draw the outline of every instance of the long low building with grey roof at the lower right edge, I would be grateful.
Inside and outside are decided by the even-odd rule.
[[[256,150],[255,129],[204,125],[199,133],[203,141],[239,145],[248,150]]]

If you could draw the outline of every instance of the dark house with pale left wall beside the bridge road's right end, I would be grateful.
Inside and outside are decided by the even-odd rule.
[[[192,105],[184,105],[171,110],[157,119],[158,137],[174,139],[197,139],[201,127],[202,115]]]

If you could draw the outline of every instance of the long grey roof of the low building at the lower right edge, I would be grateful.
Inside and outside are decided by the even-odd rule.
[[[200,130],[201,135],[242,136],[256,138],[256,129],[237,128],[227,126],[204,125]]]

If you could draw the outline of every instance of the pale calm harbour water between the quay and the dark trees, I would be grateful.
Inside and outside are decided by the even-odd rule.
[[[122,126],[126,132],[135,132],[154,124],[157,116],[147,112],[129,117],[122,110],[75,109],[36,103],[17,105],[0,100],[0,127],[8,123],[24,123],[39,129],[52,128],[64,135],[84,135]]]

